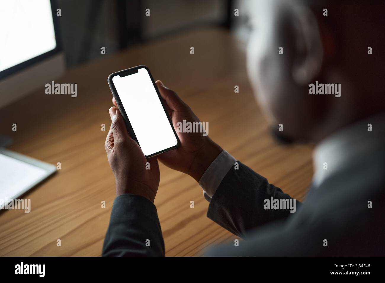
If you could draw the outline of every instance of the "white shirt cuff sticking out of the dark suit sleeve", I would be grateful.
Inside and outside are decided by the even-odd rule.
[[[203,189],[206,200],[211,200],[224,176],[236,161],[226,150],[223,150],[203,173],[201,180],[199,180],[199,186]]]

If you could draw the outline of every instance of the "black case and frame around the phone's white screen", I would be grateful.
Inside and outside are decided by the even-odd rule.
[[[115,89],[115,86],[114,86],[114,83],[112,83],[112,78],[115,77],[115,76],[121,76],[121,77],[126,77],[128,75],[132,75],[134,73],[137,73],[139,69],[141,68],[145,68],[147,70],[147,72],[149,73],[150,75],[150,78],[151,78],[151,82],[152,84],[154,85],[154,88],[156,90],[156,93],[159,97],[159,100],[161,101],[161,104],[162,104],[162,107],[163,107],[163,110],[164,112],[166,113],[167,115],[167,118],[169,119],[169,122],[170,122],[170,125],[171,125],[171,128],[172,128],[172,131],[174,132],[174,135],[176,137],[176,140],[177,140],[177,144],[175,146],[172,146],[170,148],[166,148],[164,150],[161,150],[159,152],[156,152],[156,153],[153,153],[152,155],[145,155],[146,158],[150,158],[152,156],[156,156],[158,154],[161,154],[161,153],[164,153],[166,151],[169,151],[169,150],[173,150],[175,148],[177,148],[180,144],[181,144],[181,141],[179,140],[176,132],[175,132],[175,129],[174,127],[172,126],[172,122],[171,122],[171,118],[169,117],[168,113],[167,113],[167,109],[166,107],[164,106],[164,103],[163,103],[163,98],[161,97],[160,93],[159,93],[159,90],[154,82],[154,79],[152,78],[152,75],[151,75],[151,72],[149,70],[149,68],[147,68],[147,66],[144,66],[144,65],[139,65],[139,66],[136,66],[136,67],[132,67],[132,68],[128,68],[126,70],[121,70],[119,72],[115,72],[115,73],[112,73],[111,75],[108,76],[107,78],[107,82],[108,82],[108,85],[110,86],[110,89],[111,89],[111,92],[112,92],[112,95],[114,96],[115,100],[116,100],[116,104],[118,105],[118,108],[123,116],[123,119],[124,119],[124,122],[126,123],[126,127],[127,127],[127,131],[128,133],[130,134],[131,138],[136,141],[136,143],[140,146],[137,138],[136,138],[136,135],[135,135],[135,132],[134,130],[132,129],[131,127],[131,123],[130,123],[130,120],[128,119],[127,117],[127,113],[126,113],[126,110],[124,110],[124,107],[122,105],[122,102],[119,98],[119,95]]]

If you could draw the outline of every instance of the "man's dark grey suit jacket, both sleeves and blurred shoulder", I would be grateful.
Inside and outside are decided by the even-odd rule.
[[[311,187],[304,203],[297,201],[296,212],[290,213],[265,210],[265,199],[290,196],[239,163],[222,180],[207,216],[244,241],[216,246],[205,255],[384,256],[384,177],[385,151],[375,150]],[[163,256],[156,207],[141,196],[118,196],[102,254]]]

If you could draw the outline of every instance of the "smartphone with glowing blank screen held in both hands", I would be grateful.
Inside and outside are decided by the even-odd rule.
[[[112,73],[107,81],[127,131],[146,158],[180,145],[159,90],[146,66]]]

